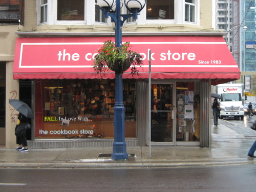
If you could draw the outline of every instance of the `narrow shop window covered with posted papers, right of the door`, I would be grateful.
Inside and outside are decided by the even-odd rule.
[[[200,83],[177,82],[176,141],[200,141]]]

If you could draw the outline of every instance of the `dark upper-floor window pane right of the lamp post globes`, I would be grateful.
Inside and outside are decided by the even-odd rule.
[[[147,0],[146,19],[174,19],[174,0]]]

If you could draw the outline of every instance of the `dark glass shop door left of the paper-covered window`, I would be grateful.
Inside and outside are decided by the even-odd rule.
[[[151,84],[151,141],[174,141],[173,83]]]

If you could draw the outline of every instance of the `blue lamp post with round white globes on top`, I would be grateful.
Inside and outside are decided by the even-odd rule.
[[[97,0],[97,3],[105,15],[105,18],[109,16],[115,23],[115,40],[116,47],[122,46],[122,29],[123,23],[126,19],[134,17],[138,18],[138,13],[144,8],[146,0],[124,0],[125,7],[132,14],[121,14],[121,0]],[[122,19],[121,19],[122,17]],[[126,152],[126,143],[124,136],[124,105],[123,105],[123,83],[122,74],[116,73],[115,79],[115,91],[116,101],[114,106],[114,142],[113,153],[111,155],[114,160],[128,159]]]

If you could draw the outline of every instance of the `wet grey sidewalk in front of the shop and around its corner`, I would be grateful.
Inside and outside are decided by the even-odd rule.
[[[29,149],[16,152],[0,148],[0,167],[29,168],[87,168],[87,167],[173,167],[223,164],[256,164],[247,157],[256,139],[256,132],[247,135],[232,129],[231,124],[220,120],[212,126],[212,147],[199,146],[132,146],[127,147],[129,159],[112,160],[112,147]],[[254,133],[255,132],[255,133]],[[151,153],[150,153],[151,148]]]

